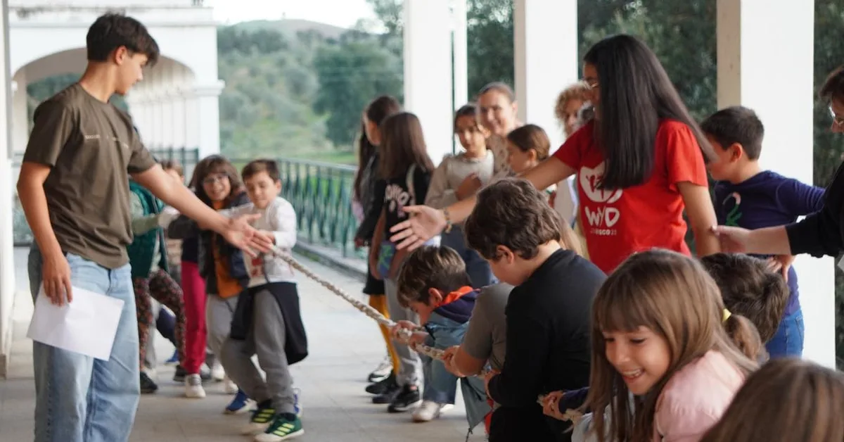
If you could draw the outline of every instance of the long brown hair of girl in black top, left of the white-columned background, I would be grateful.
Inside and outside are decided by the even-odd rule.
[[[419,118],[410,112],[398,112],[381,122],[381,157],[378,173],[383,179],[402,177],[415,164],[425,172],[434,170],[428,156]]]

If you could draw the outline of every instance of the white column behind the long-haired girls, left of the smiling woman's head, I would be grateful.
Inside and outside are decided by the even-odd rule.
[[[452,11],[448,0],[404,0],[404,107],[439,164],[452,153]]]

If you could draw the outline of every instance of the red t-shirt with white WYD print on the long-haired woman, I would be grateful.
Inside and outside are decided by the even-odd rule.
[[[592,262],[609,274],[630,254],[651,248],[689,255],[685,205],[676,184],[708,185],[703,154],[691,129],[676,120],[663,120],[647,182],[606,190],[598,188],[604,163],[593,128],[594,123],[588,123],[554,154],[577,171],[582,230]]]

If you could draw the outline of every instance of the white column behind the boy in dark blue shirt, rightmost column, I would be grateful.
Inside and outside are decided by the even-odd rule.
[[[766,132],[760,164],[803,183],[813,179],[813,45],[812,0],[717,0],[718,107],[755,110]],[[836,363],[833,265],[808,255],[794,264],[803,295],[803,357],[830,368]]]

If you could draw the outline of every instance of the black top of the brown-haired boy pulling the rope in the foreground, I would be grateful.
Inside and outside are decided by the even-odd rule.
[[[587,259],[558,250],[513,288],[505,309],[507,357],[490,380],[493,400],[541,415],[539,395],[589,385],[592,298],[605,279]]]

